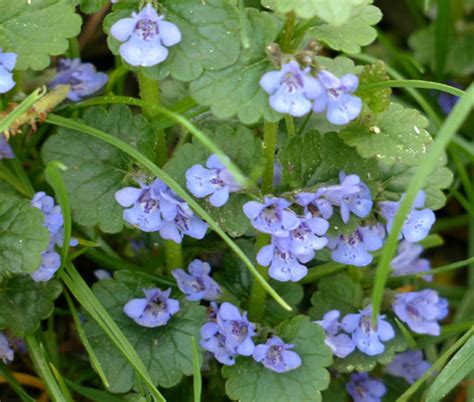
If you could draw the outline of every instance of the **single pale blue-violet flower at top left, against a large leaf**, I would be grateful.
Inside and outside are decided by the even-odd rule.
[[[150,67],[168,57],[168,47],[181,41],[178,27],[158,15],[148,3],[131,18],[118,20],[110,33],[120,42],[120,55],[132,66]]]

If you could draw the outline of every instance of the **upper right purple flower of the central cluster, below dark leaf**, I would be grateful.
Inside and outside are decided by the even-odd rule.
[[[339,173],[341,184],[322,187],[317,192],[318,198],[328,200],[332,205],[338,206],[344,223],[349,222],[350,212],[359,218],[365,218],[372,209],[372,198],[369,188],[355,174],[346,176]]]

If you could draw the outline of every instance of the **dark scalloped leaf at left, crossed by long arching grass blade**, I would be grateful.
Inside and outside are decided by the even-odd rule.
[[[153,157],[154,132],[143,116],[133,116],[125,105],[113,105],[109,111],[90,108],[84,114],[84,122]],[[101,140],[65,128],[46,141],[42,156],[46,163],[59,160],[66,166],[63,177],[77,223],[86,227],[99,225],[108,233],[122,229],[123,210],[114,194],[125,185],[133,164],[129,156]]]

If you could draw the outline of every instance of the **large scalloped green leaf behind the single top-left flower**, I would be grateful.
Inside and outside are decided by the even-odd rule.
[[[104,20],[107,33],[117,20],[130,17],[132,11],[137,11],[130,7],[124,10],[121,4],[117,6],[120,9]],[[171,74],[180,81],[191,81],[204,70],[220,70],[237,61],[240,54],[239,15],[228,1],[165,0],[160,2],[160,14],[165,14],[168,21],[178,26],[182,40],[169,48],[165,62],[141,67],[140,71],[146,76],[161,79]],[[108,44],[112,53],[118,55],[121,42],[109,35]]]

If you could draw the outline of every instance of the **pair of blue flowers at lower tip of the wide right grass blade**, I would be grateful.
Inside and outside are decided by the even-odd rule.
[[[341,322],[338,321],[339,316],[339,311],[331,310],[321,321],[316,321],[323,327],[326,344],[337,357],[344,358],[355,348],[368,356],[379,355],[385,350],[383,342],[395,336],[392,325],[383,315],[378,316],[377,325],[372,327],[371,305],[357,314],[347,314]]]

